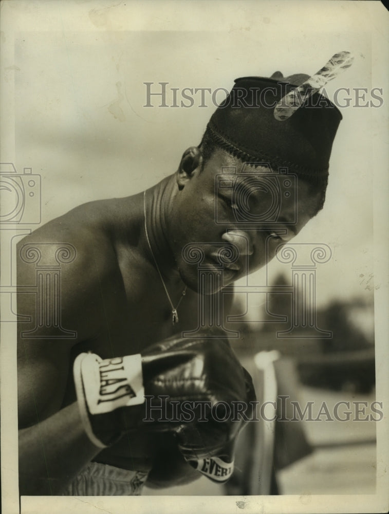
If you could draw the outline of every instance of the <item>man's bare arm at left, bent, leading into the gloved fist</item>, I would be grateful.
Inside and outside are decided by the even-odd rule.
[[[62,225],[62,224],[61,224]],[[57,227],[58,228],[58,227]],[[61,227],[60,227],[61,228]],[[71,234],[58,230],[53,235],[50,226],[25,238],[25,244],[53,244],[71,242],[77,247],[77,259],[63,266],[62,316],[65,326],[78,332],[78,339],[19,338],[18,363],[18,425],[20,494],[59,494],[78,472],[97,455],[101,448],[90,442],[85,434],[76,402],[62,408],[65,390],[71,377],[70,352],[72,347],[88,336],[88,329],[80,323],[93,290],[90,289],[92,271],[86,265],[83,243]],[[41,247],[44,251],[45,246]],[[85,270],[88,270],[88,273]],[[18,261],[18,285],[35,281],[35,268]],[[87,277],[87,278],[85,278]],[[28,331],[36,323],[34,295],[18,295],[18,313],[31,316],[31,324],[21,323],[18,333]],[[76,313],[76,315],[73,315]],[[88,313],[90,314],[90,313]],[[95,318],[96,319],[96,318]],[[69,320],[71,323],[69,324]],[[70,378],[71,379],[71,378]]]

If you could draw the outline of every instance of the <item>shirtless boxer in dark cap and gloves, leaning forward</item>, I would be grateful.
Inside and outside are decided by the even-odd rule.
[[[60,297],[62,326],[75,331],[76,339],[50,340],[43,332],[41,338],[36,332],[34,339],[21,337],[36,324],[36,300],[28,293],[18,295],[18,313],[31,317],[31,323],[18,328],[21,494],[139,494],[144,482],[167,487],[195,480],[201,476],[193,466],[196,457],[214,456],[214,465],[226,442],[233,447],[240,426],[230,424],[226,436],[224,430],[218,432],[221,426],[213,432],[209,425],[210,432],[200,434],[201,448],[195,440],[197,429],[179,432],[172,425],[160,430],[157,421],[145,426],[144,403],[115,404],[107,413],[94,413],[94,391],[88,391],[85,377],[94,366],[101,371],[115,358],[138,355],[129,358],[128,373],[143,373],[145,394],[162,383],[158,391],[165,388],[170,396],[170,378],[185,376],[190,386],[179,386],[177,397],[254,398],[250,378],[223,335],[181,338],[182,331],[197,326],[199,295],[197,266],[183,258],[182,249],[189,243],[206,244],[205,264],[212,270],[218,245],[233,245],[239,258],[225,265],[223,285],[232,284],[270,261],[277,246],[299,233],[322,208],[332,141],[341,119],[338,109],[317,93],[320,102],[315,108],[300,107],[287,120],[276,120],[269,107],[305,78],[277,74],[273,79],[237,80],[230,103],[216,109],[200,145],[183,153],[176,173],[145,193],[77,207],[18,245],[21,255],[30,244],[40,245],[45,253],[50,244],[67,243],[77,252],[61,268]],[[268,91],[262,106],[250,108],[255,89]],[[242,91],[246,103],[239,104]],[[250,177],[246,163],[265,161],[272,172],[286,167],[298,180],[289,196],[281,184],[276,224],[269,226],[265,220],[245,228],[238,221],[232,189],[215,191],[216,175],[226,167],[236,169],[237,183],[243,186]],[[257,180],[261,166],[251,170]],[[263,209],[262,200],[258,190],[250,195],[253,215]],[[22,257],[17,274],[18,284],[35,283],[35,267]],[[217,294],[217,288],[207,294]],[[227,295],[224,316],[231,301],[232,295]],[[174,310],[178,320],[172,322]],[[157,342],[161,345],[153,346]],[[200,376],[196,357],[185,353],[189,347],[202,363]],[[89,368],[88,355],[93,361]],[[156,359],[157,369],[148,359]],[[99,395],[101,384],[100,390],[98,383],[95,387]]]

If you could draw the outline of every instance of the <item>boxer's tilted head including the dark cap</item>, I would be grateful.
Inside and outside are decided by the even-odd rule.
[[[187,245],[201,249],[211,269],[223,244],[237,249],[224,263],[226,284],[264,266],[323,207],[341,115],[317,95],[316,104],[276,120],[274,106],[291,88],[277,78],[237,79],[200,145],[183,154],[169,224],[181,277],[194,289]]]

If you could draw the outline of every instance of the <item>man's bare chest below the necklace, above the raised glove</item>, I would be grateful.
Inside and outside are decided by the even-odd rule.
[[[169,297],[155,270],[136,263],[121,268],[120,277],[107,281],[101,292],[93,351],[102,357],[141,353],[157,341],[195,330],[199,295],[181,282]],[[173,308],[178,317],[174,323]]]

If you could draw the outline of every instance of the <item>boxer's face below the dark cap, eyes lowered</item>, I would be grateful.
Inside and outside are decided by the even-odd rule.
[[[320,195],[308,189],[293,174],[250,167],[216,150],[178,191],[169,213],[169,242],[182,280],[199,290],[198,252],[206,269],[223,265],[224,286],[263,267],[316,213]]]

